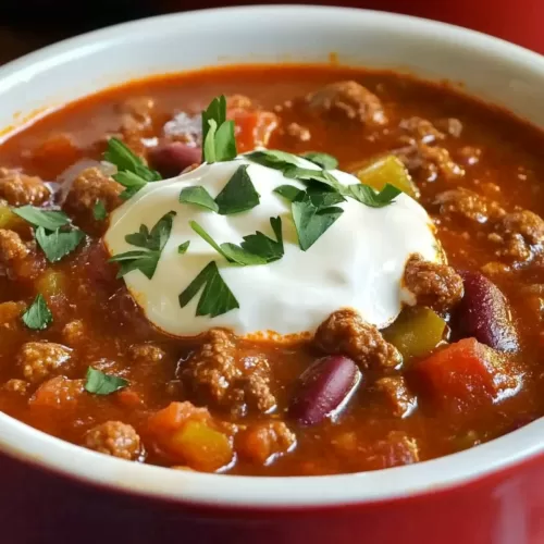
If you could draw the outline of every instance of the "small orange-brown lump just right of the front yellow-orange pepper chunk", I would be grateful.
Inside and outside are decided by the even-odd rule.
[[[289,452],[296,442],[295,433],[283,421],[270,421],[238,433],[236,449],[248,461],[264,465]]]

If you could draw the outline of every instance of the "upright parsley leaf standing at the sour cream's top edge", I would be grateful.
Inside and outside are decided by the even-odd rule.
[[[226,99],[214,98],[202,112],[202,162],[222,162],[237,154],[234,121],[226,121]]]

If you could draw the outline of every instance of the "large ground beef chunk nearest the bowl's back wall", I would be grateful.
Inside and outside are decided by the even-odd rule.
[[[356,82],[337,82],[306,97],[310,111],[331,119],[357,121],[364,125],[387,122],[381,100]]]

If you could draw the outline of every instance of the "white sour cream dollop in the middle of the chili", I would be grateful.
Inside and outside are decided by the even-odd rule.
[[[183,188],[201,185],[215,198],[240,164],[260,195],[259,206],[232,215],[220,215],[201,207],[180,203]],[[300,166],[318,169],[300,159]],[[344,185],[359,183],[345,172],[332,171]],[[175,211],[171,235],[151,280],[135,270],[124,276],[131,294],[148,320],[173,336],[194,336],[222,326],[244,336],[254,333],[295,335],[313,332],[332,312],[356,309],[369,323],[386,326],[398,316],[404,302],[413,297],[403,287],[405,264],[412,254],[440,262],[442,252],[425,210],[405,194],[384,208],[370,208],[348,198],[341,202],[344,213],[307,250],[298,245],[290,203],[274,193],[280,185],[302,189],[282,172],[248,161],[202,164],[176,177],[147,184],[110,218],[104,242],[110,255],[135,248],[125,240],[141,224],[151,228],[159,219]],[[282,218],[285,254],[268,264],[230,264],[189,226],[196,221],[218,243],[239,244],[243,236],[260,231],[275,239],[270,218]],[[190,242],[184,255],[181,244]],[[238,300],[239,308],[215,318],[197,317],[199,295],[184,308],[180,294],[210,262]]]

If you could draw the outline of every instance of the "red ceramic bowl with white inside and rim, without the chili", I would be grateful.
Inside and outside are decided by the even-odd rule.
[[[0,70],[0,126],[128,78],[218,63],[326,63],[331,53],[462,83],[544,127],[542,57],[438,23],[310,7],[170,15],[50,47]],[[9,456],[0,542],[542,544],[543,435],[544,420],[408,467],[243,478],[131,463],[0,413]]]

